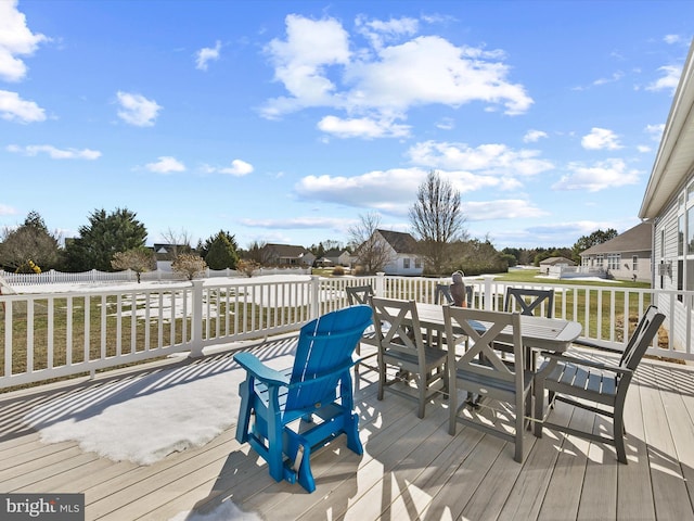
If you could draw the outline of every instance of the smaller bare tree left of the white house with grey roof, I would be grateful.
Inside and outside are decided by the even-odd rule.
[[[359,223],[347,230],[357,265],[369,275],[383,270],[394,259],[393,247],[376,233],[380,225],[378,213],[370,212],[360,215]]]

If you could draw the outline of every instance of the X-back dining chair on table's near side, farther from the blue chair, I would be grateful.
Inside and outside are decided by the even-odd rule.
[[[532,373],[523,364],[524,345],[520,315],[464,307],[444,308],[448,366],[451,371],[448,393],[449,432],[455,434],[458,423],[491,434],[515,446],[514,459],[523,462],[523,439],[526,417],[531,412]],[[502,358],[497,339],[502,333],[513,347],[514,361]],[[463,348],[470,339],[470,347]],[[460,347],[459,347],[460,346]],[[459,347],[457,350],[457,347]],[[457,351],[462,352],[457,357]],[[470,399],[459,405],[458,390],[467,396],[483,396],[481,409],[466,409]],[[493,417],[486,411],[492,410]]]

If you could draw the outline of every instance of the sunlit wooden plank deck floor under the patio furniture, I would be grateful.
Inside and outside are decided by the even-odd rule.
[[[262,461],[236,443],[233,428],[201,448],[138,466],[83,453],[73,442],[43,444],[21,421],[75,385],[131,372],[0,395],[0,492],[81,492],[88,520],[169,520],[232,504],[256,516],[248,519],[267,520],[694,519],[689,366],[643,361],[628,396],[627,466],[617,462],[612,447],[547,430],[541,440],[526,433],[526,458],[518,465],[512,447],[496,437],[461,425],[449,435],[440,397],[427,406],[424,420],[404,398],[386,394],[376,401],[375,373],[362,371],[356,403],[364,454],[348,450],[344,440],[317,453],[313,494],[275,483]],[[603,427],[564,404],[553,415],[575,425]]]

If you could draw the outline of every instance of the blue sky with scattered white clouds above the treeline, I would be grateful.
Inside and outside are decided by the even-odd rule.
[[[193,244],[409,231],[426,174],[499,247],[639,223],[692,1],[0,0],[0,227],[127,207]]]

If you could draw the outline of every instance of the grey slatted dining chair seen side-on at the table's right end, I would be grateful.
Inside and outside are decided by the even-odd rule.
[[[547,361],[536,374],[535,418],[542,419],[544,416],[542,408],[547,390],[550,408],[554,407],[555,402],[564,402],[612,418],[612,436],[551,423],[547,419],[544,422],[536,422],[535,435],[542,437],[542,429],[550,428],[593,442],[607,443],[615,446],[617,459],[627,463],[624,423],[627,391],[641,358],[653,342],[664,319],[665,315],[659,313],[656,306],[648,306],[630,336],[619,364],[590,360],[566,353],[542,353]]]

